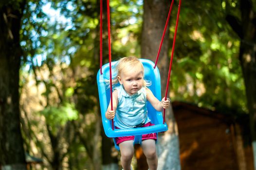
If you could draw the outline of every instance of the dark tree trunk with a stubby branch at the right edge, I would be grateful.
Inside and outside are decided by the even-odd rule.
[[[254,8],[252,0],[240,0],[241,21],[234,16],[227,16],[226,19],[241,39],[239,61],[246,89],[256,170],[256,11]]]

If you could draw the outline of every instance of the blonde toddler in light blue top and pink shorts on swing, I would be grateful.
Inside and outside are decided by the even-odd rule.
[[[120,83],[112,93],[113,110],[109,105],[106,112],[107,119],[114,119],[114,125],[119,129],[152,126],[147,116],[146,102],[157,110],[170,106],[170,99],[160,102],[146,86],[144,67],[136,57],[124,57],[116,66],[117,76],[112,83]],[[142,149],[146,156],[149,170],[157,169],[156,134],[142,135]],[[130,164],[134,153],[134,136],[116,137],[116,144],[121,152],[123,170],[131,170]]]

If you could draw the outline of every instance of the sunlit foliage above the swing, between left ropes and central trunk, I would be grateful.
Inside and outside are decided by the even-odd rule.
[[[111,26],[113,56],[140,56],[143,6],[140,0],[112,0]]]

